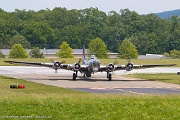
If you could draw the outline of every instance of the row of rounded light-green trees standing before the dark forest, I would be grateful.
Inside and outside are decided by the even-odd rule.
[[[88,55],[95,54],[98,58],[109,58],[107,46],[104,41],[100,38],[95,38],[88,45]],[[124,40],[119,46],[120,58],[122,59],[137,59],[138,52],[136,47],[129,41]],[[68,43],[62,42],[59,46],[59,51],[55,53],[56,57],[59,58],[74,58],[73,49]],[[44,58],[39,47],[33,47],[29,53],[21,44],[14,44],[9,53],[9,58]],[[6,58],[5,55],[0,51],[0,58]]]

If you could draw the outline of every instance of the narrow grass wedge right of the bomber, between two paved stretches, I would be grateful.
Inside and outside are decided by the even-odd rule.
[[[180,84],[180,75],[177,75],[175,73],[157,73],[157,74],[138,73],[138,74],[130,74],[126,76],[152,80],[152,81],[161,81],[161,82],[167,82],[167,83]]]

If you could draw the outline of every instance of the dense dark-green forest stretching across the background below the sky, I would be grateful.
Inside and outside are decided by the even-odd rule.
[[[40,11],[0,9],[0,49],[21,43],[25,48],[59,48],[66,41],[82,48],[101,38],[110,52],[117,52],[124,39],[130,39],[139,54],[161,54],[180,50],[180,18],[161,19],[155,14],[139,15],[128,9],[106,14],[98,8]]]

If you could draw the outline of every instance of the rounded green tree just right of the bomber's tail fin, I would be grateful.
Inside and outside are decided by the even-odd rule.
[[[98,58],[108,58],[107,46],[101,38],[95,38],[89,43],[89,53],[95,54]]]

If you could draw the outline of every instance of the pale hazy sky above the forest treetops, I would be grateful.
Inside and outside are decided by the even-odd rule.
[[[180,0],[0,0],[0,8],[11,12],[15,9],[38,11],[55,7],[68,10],[97,7],[106,13],[128,8],[139,14],[147,14],[180,9]]]

